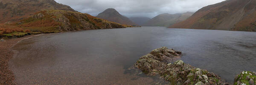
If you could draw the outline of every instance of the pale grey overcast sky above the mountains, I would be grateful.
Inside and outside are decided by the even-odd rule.
[[[126,17],[155,17],[158,14],[195,12],[198,9],[224,0],[55,0],[76,11],[93,16],[107,8],[115,8]]]

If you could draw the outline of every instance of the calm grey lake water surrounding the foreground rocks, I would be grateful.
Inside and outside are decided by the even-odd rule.
[[[124,71],[162,46],[228,82],[241,71],[256,71],[256,32],[164,27],[44,34],[15,45],[9,64],[18,84],[147,85],[154,79]]]

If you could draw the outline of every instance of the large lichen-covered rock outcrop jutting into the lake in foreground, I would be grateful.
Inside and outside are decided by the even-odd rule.
[[[134,66],[149,76],[169,81],[171,85],[227,85],[218,75],[178,60],[180,53],[166,47],[158,48],[141,57]]]

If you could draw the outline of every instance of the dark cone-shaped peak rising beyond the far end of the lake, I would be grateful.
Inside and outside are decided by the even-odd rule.
[[[96,17],[109,20],[112,22],[120,23],[120,24],[136,26],[136,24],[133,23],[128,17],[125,17],[119,14],[119,12],[116,11],[116,9],[114,8],[108,8],[102,13],[98,14]]]

